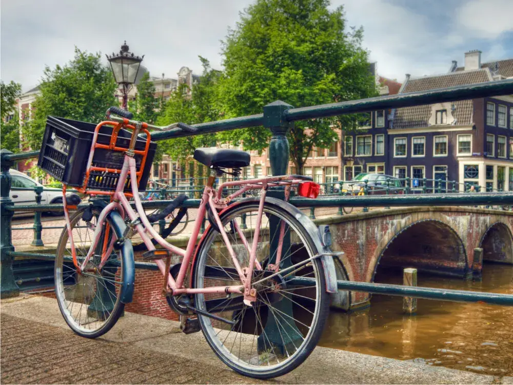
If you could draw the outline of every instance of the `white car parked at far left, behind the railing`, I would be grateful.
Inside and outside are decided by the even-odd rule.
[[[18,170],[10,169],[11,174],[11,201],[14,202],[15,206],[36,204],[34,187],[42,186],[41,183],[36,182],[23,172]],[[30,190],[26,188],[31,188]],[[61,188],[50,188],[45,187],[41,194],[41,204],[49,203],[62,203],[63,202],[63,191]],[[20,213],[16,213],[20,214]],[[55,213],[56,215],[62,215],[61,213]]]

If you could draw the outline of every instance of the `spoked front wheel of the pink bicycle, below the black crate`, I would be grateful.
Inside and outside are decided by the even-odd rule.
[[[85,210],[86,208],[78,210],[70,219],[73,243],[75,244],[79,263],[81,257],[85,257],[89,251],[88,241],[90,242],[90,240],[93,239],[92,227],[90,227],[86,221],[81,220]],[[93,226],[95,226],[97,218],[100,215],[100,211],[93,208],[92,214],[93,217],[90,223],[94,222]],[[83,227],[83,225],[85,225],[85,227]],[[110,226],[109,233],[114,237],[116,236],[112,222],[107,218],[100,237],[100,244],[104,239],[106,233],[105,229],[107,226]],[[85,228],[85,230],[81,230],[81,228]],[[89,234],[88,230],[92,230],[92,232]],[[109,239],[111,238],[109,237]],[[68,244],[70,244],[68,240],[68,231],[67,228],[64,227],[57,246],[54,265],[55,296],[57,298],[57,304],[64,320],[73,332],[86,338],[100,337],[114,326],[125,308],[125,304],[121,302],[121,284],[123,282],[124,271],[123,264],[125,263],[122,251],[113,252],[109,257],[111,258],[111,261],[109,261],[109,263],[107,263],[101,271],[98,272],[94,271],[94,267],[99,256],[91,258],[88,262],[89,272],[77,275],[75,266],[71,259],[71,251],[66,248]],[[114,259],[119,263],[110,263],[114,262]],[[103,276],[105,276],[103,279],[99,278]],[[119,284],[116,286],[115,282],[118,277]],[[81,283],[82,292],[80,291]],[[87,291],[86,283],[88,284]],[[73,286],[75,286],[74,290]],[[116,293],[115,297],[112,292],[109,291],[109,288],[114,288]],[[80,303],[80,307],[78,307],[78,303]],[[84,309],[84,305],[86,305],[86,309]],[[75,315],[73,315],[73,309],[75,309]],[[83,317],[85,320],[82,323]]]

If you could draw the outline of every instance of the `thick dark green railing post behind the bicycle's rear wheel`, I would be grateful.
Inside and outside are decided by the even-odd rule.
[[[282,101],[276,101],[264,106],[264,127],[268,128],[272,132],[272,138],[269,142],[269,161],[271,163],[272,175],[285,175],[287,174],[287,166],[289,161],[289,143],[287,139],[287,131],[289,130],[290,123],[285,120],[285,111],[292,108],[291,105]],[[267,192],[269,197],[284,199],[283,188],[270,189]],[[269,251],[269,263],[274,263],[275,250],[278,247],[279,237],[273,235],[279,232],[280,219],[275,216],[269,218],[269,239],[271,239],[270,251]],[[283,238],[282,250],[287,252],[282,255],[282,262],[280,263],[281,268],[287,268],[291,266],[290,258],[290,233],[286,230]],[[276,311],[286,315],[292,315],[292,302],[288,298],[277,303],[275,307]],[[283,325],[281,327],[283,329]],[[279,349],[282,354],[286,352],[287,346],[297,344],[297,340],[301,339],[301,332],[292,322],[288,324],[288,330],[283,333],[280,330],[279,323],[274,317],[267,316],[267,323],[265,325],[265,332],[258,338],[258,349],[259,352],[265,351],[266,345],[264,335],[268,342],[271,342],[275,348]]]

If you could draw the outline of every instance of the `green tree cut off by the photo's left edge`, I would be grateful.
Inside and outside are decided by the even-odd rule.
[[[2,138],[2,148],[8,149],[12,152],[19,151],[19,121],[18,111],[16,110],[16,98],[22,92],[22,86],[19,83],[11,81],[5,84],[0,81],[0,94],[2,95],[2,102],[0,106],[0,132]],[[14,117],[8,122],[5,120],[9,115],[14,114]]]

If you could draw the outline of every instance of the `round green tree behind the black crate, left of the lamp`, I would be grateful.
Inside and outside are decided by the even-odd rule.
[[[118,105],[117,85],[111,70],[103,66],[100,53],[87,53],[75,47],[75,56],[64,66],[46,67],[34,102],[34,119],[22,127],[23,137],[32,149],[41,148],[46,117],[97,123],[110,106]]]

